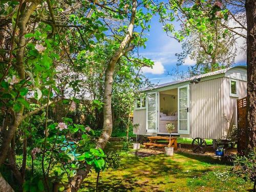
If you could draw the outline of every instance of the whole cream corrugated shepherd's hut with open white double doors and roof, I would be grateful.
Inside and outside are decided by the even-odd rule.
[[[236,66],[144,89],[135,103],[134,124],[139,135],[172,135],[225,139],[237,124],[237,99],[246,96],[247,68]]]

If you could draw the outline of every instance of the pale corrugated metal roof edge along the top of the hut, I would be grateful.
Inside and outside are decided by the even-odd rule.
[[[142,89],[141,91],[154,90],[154,89],[158,89],[158,88],[172,86],[173,84],[178,84],[178,83],[182,83],[182,82],[186,82],[186,81],[191,81],[191,80],[194,80],[194,79],[201,79],[201,78],[204,78],[204,77],[219,75],[219,74],[226,73],[229,69],[237,68],[237,67],[247,68],[246,66],[235,66],[235,67],[231,67],[231,68],[221,69],[221,70],[218,70],[218,71],[205,73],[205,74],[201,74],[201,75],[196,75],[196,76],[193,76],[193,77],[189,77],[189,78],[185,78],[185,79],[181,79],[181,80],[177,80],[177,81],[172,81],[172,82],[159,84],[159,85],[151,87],[151,88]]]

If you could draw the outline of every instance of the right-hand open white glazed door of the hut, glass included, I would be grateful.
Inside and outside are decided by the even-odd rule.
[[[178,88],[178,133],[189,134],[189,85]]]

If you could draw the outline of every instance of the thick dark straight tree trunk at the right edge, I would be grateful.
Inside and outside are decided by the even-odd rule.
[[[248,149],[256,147],[256,1],[246,0]]]

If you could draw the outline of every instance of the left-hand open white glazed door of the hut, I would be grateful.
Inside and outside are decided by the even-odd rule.
[[[146,100],[146,131],[148,133],[157,133],[157,112],[158,100],[157,92],[148,93]]]

